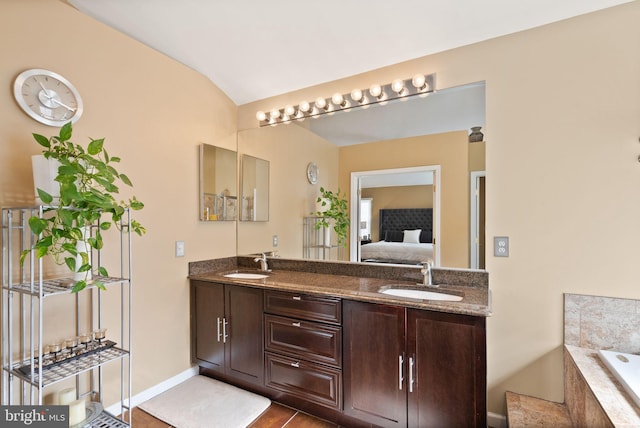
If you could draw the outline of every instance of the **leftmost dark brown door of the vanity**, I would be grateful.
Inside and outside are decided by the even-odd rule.
[[[194,356],[206,367],[224,372],[224,286],[193,282]]]

